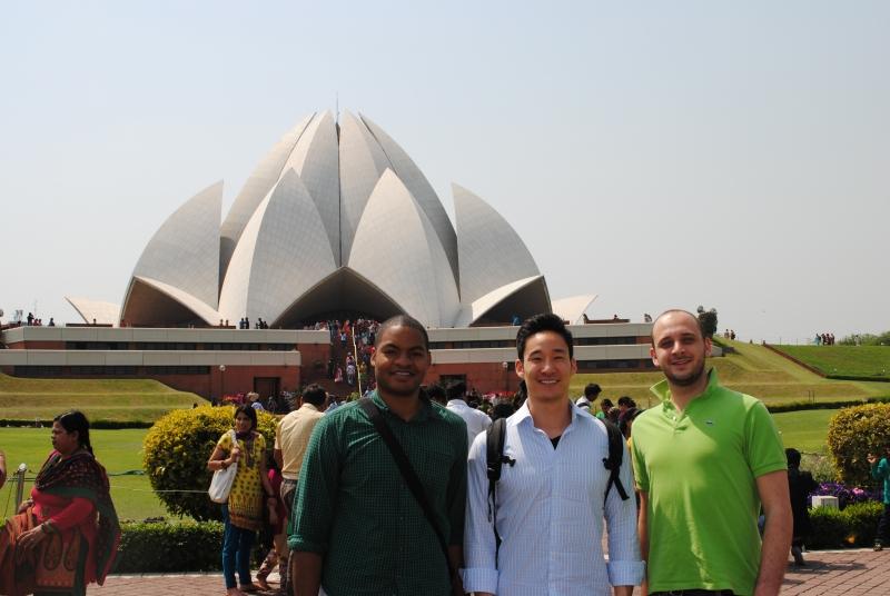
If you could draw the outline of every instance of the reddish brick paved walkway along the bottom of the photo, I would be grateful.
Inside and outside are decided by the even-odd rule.
[[[789,567],[782,595],[890,596],[890,549],[819,550],[807,554],[809,565]],[[277,580],[277,575],[269,577]],[[215,574],[111,576],[105,586],[92,585],[88,596],[221,596],[222,577]],[[273,587],[276,587],[274,584]],[[260,593],[270,595],[274,593]]]

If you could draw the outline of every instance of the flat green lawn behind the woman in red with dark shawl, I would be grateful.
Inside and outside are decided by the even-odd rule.
[[[142,438],[146,429],[90,431],[90,443],[96,457],[109,474],[111,498],[121,519],[145,519],[168,516],[166,509],[151,491],[147,476],[117,476],[142,469]],[[0,428],[0,448],[7,454],[7,467],[11,474],[19,464],[28,465],[27,478],[33,479],[41,464],[52,450],[49,428]],[[208,454],[209,456],[209,454]],[[26,495],[31,490],[26,484]],[[14,494],[12,483],[0,489],[0,518],[13,513]]]

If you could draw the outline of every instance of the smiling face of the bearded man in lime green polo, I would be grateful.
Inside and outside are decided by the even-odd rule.
[[[702,336],[695,317],[683,311],[662,315],[652,327],[652,362],[671,385],[690,387],[702,380],[711,340]]]

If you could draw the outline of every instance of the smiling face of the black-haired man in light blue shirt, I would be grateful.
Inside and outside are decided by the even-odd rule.
[[[568,398],[568,384],[577,370],[568,356],[568,345],[555,331],[540,331],[525,340],[522,360],[516,360],[516,374],[525,380],[528,399],[554,401]]]

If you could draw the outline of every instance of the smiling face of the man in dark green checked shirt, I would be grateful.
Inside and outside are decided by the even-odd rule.
[[[431,362],[421,331],[404,325],[386,327],[370,357],[377,389],[396,397],[417,395]]]

